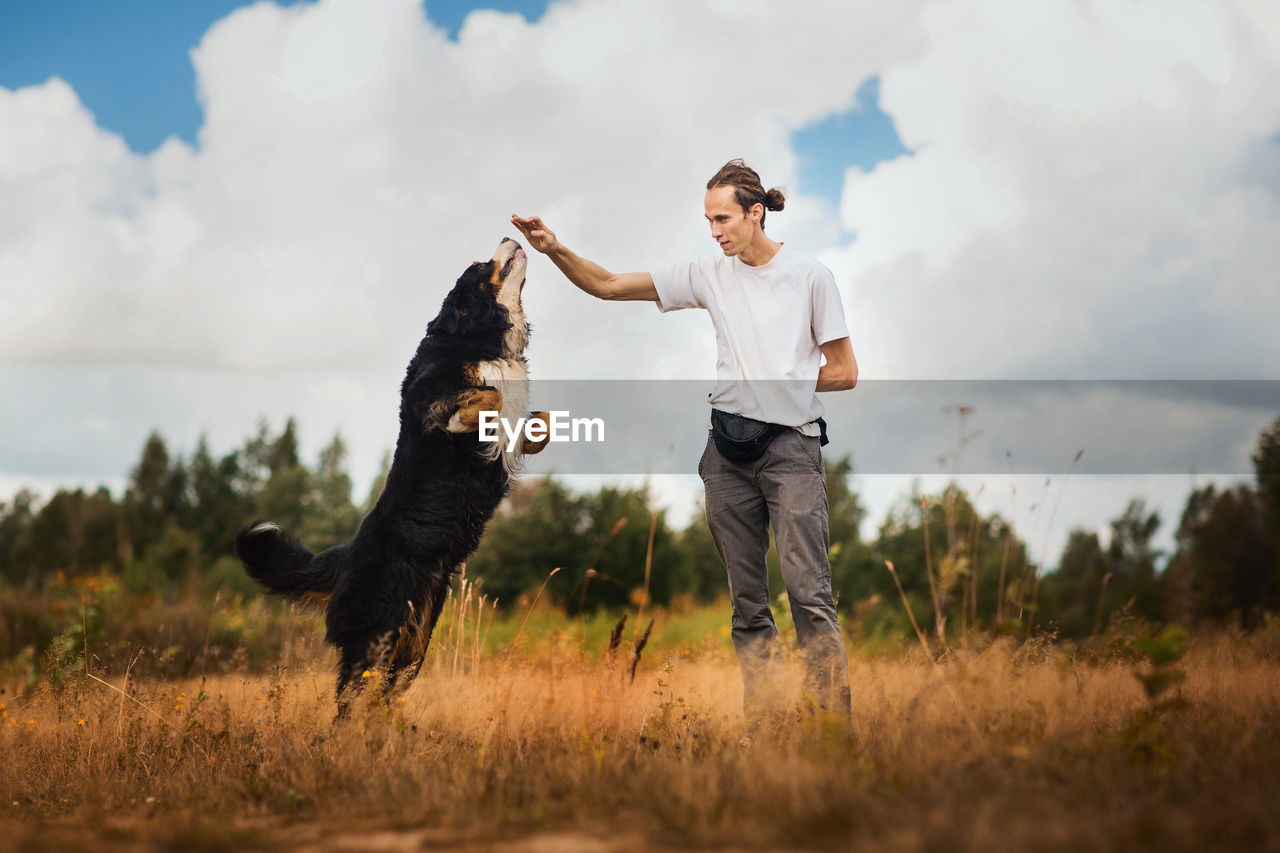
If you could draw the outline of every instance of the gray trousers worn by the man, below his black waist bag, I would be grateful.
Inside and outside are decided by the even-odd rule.
[[[781,710],[778,629],[769,610],[769,525],[805,662],[805,690],[829,713],[850,713],[849,661],[831,594],[827,480],[817,437],[782,433],[754,462],[721,456],[708,433],[698,464],[707,525],[728,574],[733,648],[749,719]]]

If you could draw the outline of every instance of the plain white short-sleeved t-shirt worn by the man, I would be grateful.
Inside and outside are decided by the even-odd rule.
[[[658,310],[701,307],[716,327],[710,405],[817,435],[819,346],[849,337],[836,278],[819,260],[778,248],[767,264],[709,256],[652,273]]]

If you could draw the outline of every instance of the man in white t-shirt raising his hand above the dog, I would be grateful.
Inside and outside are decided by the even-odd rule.
[[[780,710],[772,671],[780,644],[765,566],[771,523],[805,657],[805,688],[827,712],[846,719],[850,712],[827,562],[826,424],[814,392],[852,388],[858,362],[831,270],[764,233],[765,211],[782,210],[785,201],[782,191],[764,191],[754,169],[731,160],[707,182],[704,200],[722,256],[653,274],[613,274],[566,248],[538,216],[511,218],[534,248],[591,296],[650,300],[660,311],[705,309],[717,342],[712,407],[785,428],[771,430],[777,435],[754,461],[726,459],[709,435],[698,465],[707,523],[728,574],[744,710],[753,722]]]

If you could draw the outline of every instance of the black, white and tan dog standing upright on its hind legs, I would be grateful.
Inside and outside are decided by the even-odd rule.
[[[526,265],[520,243],[504,238],[444,297],[401,386],[387,485],[351,542],[312,553],[271,521],[236,537],[253,580],[324,607],[325,639],[339,652],[339,717],[370,676],[388,693],[417,678],[453,575],[480,543],[522,456],[547,444],[522,437],[508,450],[479,434],[481,411],[549,426],[547,412],[526,409]]]

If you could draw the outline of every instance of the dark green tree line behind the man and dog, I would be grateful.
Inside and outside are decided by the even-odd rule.
[[[381,484],[357,502],[346,455],[334,437],[305,464],[292,419],[278,434],[260,424],[223,456],[205,439],[178,456],[152,433],[119,498],[106,488],[63,489],[44,502],[20,492],[0,503],[0,584],[37,590],[58,576],[109,574],[151,594],[256,596],[230,551],[236,530],[271,519],[312,549],[348,539]],[[1135,498],[1111,521],[1106,544],[1098,532],[1071,530],[1047,571],[1030,561],[1012,524],[982,514],[954,484],[906,496],[864,539],[852,465],[828,460],[838,607],[860,631],[901,634],[914,617],[940,638],[968,630],[1084,637],[1126,615],[1258,628],[1280,611],[1280,419],[1260,434],[1253,462],[1254,483],[1207,485],[1188,497],[1172,555],[1155,548],[1161,519]],[[769,561],[780,594],[772,549]],[[580,493],[550,476],[517,483],[467,574],[500,607],[527,606],[541,590],[571,615],[709,602],[727,592],[699,514],[675,526],[646,488]]]

